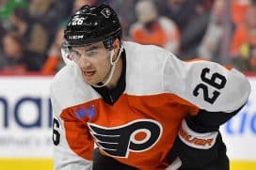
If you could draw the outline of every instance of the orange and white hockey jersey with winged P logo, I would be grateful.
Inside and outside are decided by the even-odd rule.
[[[113,105],[67,65],[51,85],[56,170],[91,169],[94,143],[114,159],[163,170],[186,115],[200,109],[231,113],[248,100],[250,86],[238,70],[205,61],[181,61],[152,45],[123,42],[126,86]]]

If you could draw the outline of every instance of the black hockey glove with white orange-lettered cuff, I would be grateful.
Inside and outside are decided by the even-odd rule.
[[[218,131],[197,132],[183,120],[181,130],[168,153],[167,170],[228,170],[226,147]],[[175,167],[174,167],[175,166]]]

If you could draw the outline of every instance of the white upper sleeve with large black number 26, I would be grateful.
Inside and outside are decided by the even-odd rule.
[[[245,75],[206,60],[181,61],[170,54],[163,86],[207,112],[232,113],[248,100],[250,85]]]

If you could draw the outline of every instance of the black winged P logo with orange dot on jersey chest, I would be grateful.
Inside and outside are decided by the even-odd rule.
[[[88,127],[100,149],[112,157],[121,158],[127,158],[131,151],[149,150],[162,135],[161,124],[152,119],[137,119],[112,128],[93,123],[88,123]]]

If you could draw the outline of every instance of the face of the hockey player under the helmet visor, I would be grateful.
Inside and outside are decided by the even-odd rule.
[[[111,69],[110,53],[104,48],[103,42],[88,46],[73,47],[71,57],[81,69],[83,78],[88,85],[104,83]]]

